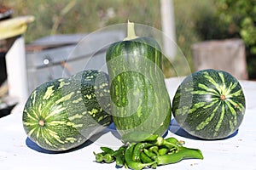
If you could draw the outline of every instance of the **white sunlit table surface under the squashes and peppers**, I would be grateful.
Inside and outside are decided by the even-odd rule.
[[[171,99],[182,79],[166,79]],[[183,160],[157,169],[256,169],[256,82],[240,82],[246,96],[247,110],[238,132],[228,139],[194,139],[172,120],[166,137],[173,136],[184,140],[187,147],[199,148],[204,160]],[[21,121],[23,105],[17,105],[12,114],[0,119],[1,169],[116,169],[114,163],[96,163],[93,155],[93,151],[99,152],[102,145],[117,149],[122,144],[113,126],[77,149],[64,153],[50,152],[39,148],[26,137]]]

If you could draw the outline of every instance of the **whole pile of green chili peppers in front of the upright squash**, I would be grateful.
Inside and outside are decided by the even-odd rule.
[[[183,146],[183,141],[171,137],[164,139],[158,135],[150,135],[141,142],[131,142],[112,150],[101,147],[101,153],[95,153],[96,162],[116,162],[117,167],[143,169],[144,167],[156,168],[182,161],[183,159],[203,159],[201,150]]]

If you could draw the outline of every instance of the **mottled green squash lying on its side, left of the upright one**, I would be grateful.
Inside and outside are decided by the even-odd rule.
[[[106,105],[99,105],[100,99]],[[23,127],[28,138],[42,148],[69,150],[112,122],[103,110],[109,106],[108,75],[101,71],[82,71],[36,88],[26,101]]]

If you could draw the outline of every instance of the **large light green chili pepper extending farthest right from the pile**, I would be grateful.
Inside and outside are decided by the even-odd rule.
[[[158,156],[156,158],[158,165],[166,165],[171,163],[177,163],[178,161],[182,161],[183,159],[203,159],[201,154],[201,150],[197,149],[189,149],[189,148],[181,148],[176,153],[164,156]]]

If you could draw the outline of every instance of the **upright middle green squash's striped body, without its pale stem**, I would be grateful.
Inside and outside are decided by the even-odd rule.
[[[107,51],[113,122],[120,135],[134,131],[163,135],[171,121],[171,101],[154,39],[115,42]]]

